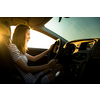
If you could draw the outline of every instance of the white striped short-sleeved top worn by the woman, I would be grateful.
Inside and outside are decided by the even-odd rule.
[[[26,63],[26,65],[28,64],[27,56],[29,54],[27,54],[27,53],[25,53],[25,55],[21,54],[21,52],[19,51],[17,46],[15,44],[12,44],[12,43],[8,45],[8,49],[10,51],[10,54],[11,54],[12,59],[13,59],[14,62],[16,62],[17,60],[19,60],[21,58]],[[19,70],[19,72],[23,76],[25,82],[29,83],[29,84],[35,83],[36,80],[38,79],[38,77],[43,73],[43,72],[40,72],[40,73],[38,73],[36,75],[33,75],[32,73],[25,73],[25,72],[23,72],[18,67],[17,67],[17,69]]]

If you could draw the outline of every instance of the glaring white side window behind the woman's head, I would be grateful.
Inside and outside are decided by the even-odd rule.
[[[11,26],[11,39],[13,35],[13,31],[16,26]],[[28,48],[43,48],[48,49],[50,45],[52,45],[55,40],[43,33],[34,31],[30,29],[30,40],[27,44]]]

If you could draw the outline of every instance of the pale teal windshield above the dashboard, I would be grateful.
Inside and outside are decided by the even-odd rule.
[[[100,17],[53,17],[45,27],[67,41],[100,38]]]

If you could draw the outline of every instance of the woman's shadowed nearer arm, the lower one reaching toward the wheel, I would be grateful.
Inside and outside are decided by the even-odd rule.
[[[26,73],[36,73],[36,72],[45,70],[47,68],[52,68],[52,67],[56,66],[57,62],[58,62],[58,60],[56,59],[56,60],[51,60],[48,64],[44,64],[44,65],[40,65],[40,66],[27,66],[25,64],[25,62],[20,58],[15,63],[22,71],[24,71]]]

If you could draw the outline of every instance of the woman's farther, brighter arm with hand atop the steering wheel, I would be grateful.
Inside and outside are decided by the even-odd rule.
[[[50,48],[44,52],[42,52],[41,54],[38,54],[36,56],[31,56],[31,55],[27,55],[28,60],[36,62],[39,59],[41,59],[43,56],[45,56],[47,53],[49,53],[52,50],[53,44],[50,46]]]

